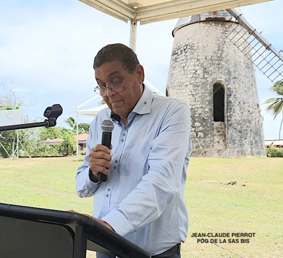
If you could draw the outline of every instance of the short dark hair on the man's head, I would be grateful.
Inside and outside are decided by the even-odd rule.
[[[126,45],[116,43],[102,47],[94,57],[93,68],[104,63],[119,61],[128,73],[132,73],[139,60],[136,53]]]

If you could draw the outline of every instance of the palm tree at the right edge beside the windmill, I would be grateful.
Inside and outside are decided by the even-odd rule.
[[[279,129],[279,139],[281,139],[281,128],[283,123],[283,81],[277,81],[271,88],[272,91],[276,92],[279,98],[270,98],[265,103],[272,103],[266,109],[274,114],[274,119],[282,112],[282,120]]]

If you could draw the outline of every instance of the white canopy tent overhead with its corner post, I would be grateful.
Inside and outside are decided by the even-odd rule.
[[[135,51],[137,21],[146,24],[230,9],[270,0],[80,0],[125,22],[131,21],[130,47]]]

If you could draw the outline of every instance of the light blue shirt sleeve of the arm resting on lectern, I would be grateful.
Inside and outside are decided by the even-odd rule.
[[[183,198],[191,153],[190,110],[186,104],[169,108],[151,146],[149,170],[129,195],[102,218],[121,236],[158,219],[177,196]]]

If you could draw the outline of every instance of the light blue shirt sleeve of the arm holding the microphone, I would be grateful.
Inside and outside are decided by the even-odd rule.
[[[79,197],[90,197],[93,196],[95,191],[99,188],[100,183],[94,183],[89,179],[89,158],[88,155],[91,149],[94,147],[92,139],[94,121],[92,122],[89,130],[89,135],[86,140],[86,155],[84,157],[83,163],[79,166],[76,173],[76,192]]]

